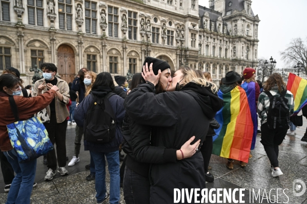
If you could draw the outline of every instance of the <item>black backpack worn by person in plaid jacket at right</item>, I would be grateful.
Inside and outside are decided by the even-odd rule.
[[[284,90],[279,97],[273,96],[270,92],[264,92],[270,98],[267,123],[271,129],[284,128],[290,125],[289,107],[286,105],[288,99],[284,98],[286,91]]]

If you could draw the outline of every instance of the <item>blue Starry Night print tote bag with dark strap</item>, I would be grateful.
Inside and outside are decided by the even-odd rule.
[[[9,138],[17,153],[18,162],[25,163],[53,149],[48,132],[38,117],[19,121],[18,109],[13,96],[9,97],[16,122],[7,125]]]

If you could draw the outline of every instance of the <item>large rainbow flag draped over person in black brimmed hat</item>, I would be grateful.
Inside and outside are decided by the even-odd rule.
[[[218,97],[224,101],[215,119],[221,124],[215,130],[212,153],[248,163],[253,140],[253,121],[245,90],[236,86],[231,92]]]

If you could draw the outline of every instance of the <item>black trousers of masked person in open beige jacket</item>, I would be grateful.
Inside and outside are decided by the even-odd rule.
[[[51,114],[50,123],[44,123],[48,136],[52,144],[56,144],[56,155],[58,167],[66,166],[66,129],[67,129],[67,120],[62,123],[56,123],[55,114]],[[56,170],[55,148],[47,153],[48,169]]]

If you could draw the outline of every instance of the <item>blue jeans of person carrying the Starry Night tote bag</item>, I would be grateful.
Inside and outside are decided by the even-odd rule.
[[[4,154],[16,173],[6,204],[29,204],[36,173],[36,159],[26,163],[19,163],[15,150],[6,151]]]

